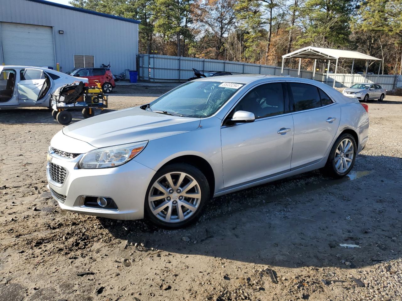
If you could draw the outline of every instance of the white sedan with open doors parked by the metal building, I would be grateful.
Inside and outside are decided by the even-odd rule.
[[[50,94],[58,87],[87,78],[26,66],[0,66],[0,110],[22,107],[50,108]]]

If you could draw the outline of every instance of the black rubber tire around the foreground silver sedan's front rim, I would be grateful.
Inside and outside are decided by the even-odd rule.
[[[150,194],[150,190],[153,184],[163,175],[167,173],[174,173],[174,172],[182,172],[187,173],[191,177],[193,177],[199,184],[201,198],[199,199],[199,205],[196,211],[189,216],[187,219],[183,220],[182,222],[164,222],[156,217],[151,211],[151,203],[148,201],[148,195]],[[165,228],[165,229],[177,229],[187,227],[193,224],[195,221],[199,219],[202,215],[203,210],[205,208],[206,203],[210,199],[210,191],[209,191],[209,184],[205,175],[193,165],[189,165],[186,163],[174,163],[170,165],[166,165],[162,167],[152,178],[150,184],[148,185],[147,193],[144,200],[144,212],[146,218],[148,218],[153,224],[158,227]],[[172,199],[173,201],[173,199]],[[167,206],[167,205],[166,205]],[[178,215],[178,214],[177,214]]]

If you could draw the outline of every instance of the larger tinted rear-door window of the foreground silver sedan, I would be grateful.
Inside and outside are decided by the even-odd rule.
[[[304,111],[321,106],[321,97],[316,86],[305,83],[290,83],[293,94],[293,110]]]

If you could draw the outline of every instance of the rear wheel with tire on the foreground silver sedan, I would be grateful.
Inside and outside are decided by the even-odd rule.
[[[333,178],[342,178],[351,171],[356,159],[356,140],[351,134],[336,139],[328,156],[324,171]]]

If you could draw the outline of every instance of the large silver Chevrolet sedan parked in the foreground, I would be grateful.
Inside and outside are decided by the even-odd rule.
[[[49,189],[72,212],[183,227],[212,197],[314,169],[344,177],[368,140],[367,111],[308,79],[198,79],[58,132]]]

